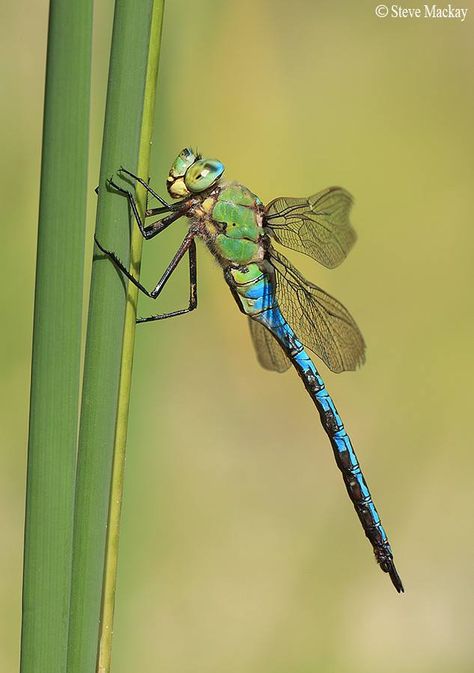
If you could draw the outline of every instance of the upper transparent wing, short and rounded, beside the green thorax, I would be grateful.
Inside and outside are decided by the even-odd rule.
[[[306,199],[280,196],[266,206],[265,225],[278,243],[332,269],[356,240],[349,221],[351,205],[352,197],[342,187],[329,187]]]

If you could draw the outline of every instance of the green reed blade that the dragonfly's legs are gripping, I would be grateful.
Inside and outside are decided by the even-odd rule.
[[[148,176],[159,47],[159,32],[153,34],[152,22],[156,25],[158,13],[161,24],[162,12],[163,0],[117,0],[115,5],[96,232],[101,243],[115,250],[125,264],[130,246],[127,201],[108,192],[106,180],[122,165]],[[139,198],[143,206],[140,192]],[[134,238],[132,268],[136,274],[140,254],[141,241]],[[135,328],[131,316],[136,294],[127,292],[113,265],[96,257],[79,436],[68,673],[92,673],[98,662],[111,474],[115,440],[124,438],[126,428],[129,383],[124,404],[123,380],[127,366],[131,368]],[[131,306],[125,336],[128,345],[122,355],[127,303]],[[116,427],[120,378],[122,431]],[[110,566],[108,573],[110,578]]]

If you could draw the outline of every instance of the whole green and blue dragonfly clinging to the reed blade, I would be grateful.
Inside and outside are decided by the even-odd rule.
[[[311,350],[333,372],[354,370],[365,359],[365,343],[349,311],[334,297],[306,280],[275,244],[304,253],[327,268],[338,266],[352,248],[356,234],[349,214],[352,197],[329,187],[308,198],[279,197],[267,205],[239,182],[225,182],[224,164],[187,147],[173,162],[166,186],[168,203],[149,181],[121,168],[119,174],[147,191],[140,215],[134,194],[112,178],[109,190],[128,199],[142,236],[148,240],[181,217],[186,235],[152,290],[146,289],[118,256],[98,240],[100,251],[143,294],[156,299],[179,262],[189,259],[189,303],[186,308],[138,318],[138,323],[190,313],[197,307],[196,239],[204,241],[222,267],[224,278],[242,313],[248,316],[260,364],[268,370],[296,369],[311,397],[342,473],[349,498],[380,568],[395,589],[404,591],[392,549],[362,474],[352,442],[327,391]],[[131,183],[132,184],[132,183]],[[159,206],[148,208],[148,195]],[[151,224],[146,224],[153,218]]]

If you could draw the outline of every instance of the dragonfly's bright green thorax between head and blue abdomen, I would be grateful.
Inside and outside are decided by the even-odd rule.
[[[224,267],[263,259],[263,206],[247,187],[237,182],[220,183],[200,200],[192,216]]]

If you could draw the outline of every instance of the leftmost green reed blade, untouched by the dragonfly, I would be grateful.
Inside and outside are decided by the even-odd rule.
[[[91,0],[51,0],[28,440],[22,673],[66,670],[91,36]]]

